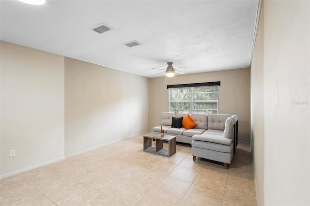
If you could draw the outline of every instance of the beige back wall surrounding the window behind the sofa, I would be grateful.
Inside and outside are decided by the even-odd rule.
[[[239,117],[239,141],[250,142],[250,70],[249,68],[157,77],[150,80],[150,130],[159,125],[160,114],[168,112],[167,85],[220,81],[219,114]]]

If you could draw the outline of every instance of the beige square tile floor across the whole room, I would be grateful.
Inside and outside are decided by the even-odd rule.
[[[143,152],[139,135],[1,179],[0,205],[252,206],[252,158],[239,143],[225,170],[181,145],[170,158]]]

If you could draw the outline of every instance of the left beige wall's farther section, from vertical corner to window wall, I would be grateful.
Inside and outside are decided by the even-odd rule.
[[[149,90],[149,78],[65,58],[65,155],[149,131]]]

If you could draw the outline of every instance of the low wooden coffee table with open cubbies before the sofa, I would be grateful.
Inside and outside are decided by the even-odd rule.
[[[152,146],[152,139],[155,139],[155,147]],[[163,148],[163,142],[168,141],[168,149]],[[160,136],[157,133],[149,133],[143,135],[143,151],[152,152],[170,157],[175,153],[176,139],[175,136],[167,135]]]

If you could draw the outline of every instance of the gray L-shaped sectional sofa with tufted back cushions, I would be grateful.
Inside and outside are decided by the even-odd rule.
[[[185,118],[187,114],[176,114],[176,118]],[[207,115],[192,114],[190,117],[197,125],[186,130],[173,128],[173,113],[161,114],[160,124],[165,133],[176,136],[176,141],[191,144],[193,160],[196,157],[223,162],[225,169],[233,159],[233,154],[238,141],[238,116],[237,115]],[[160,133],[160,126],[153,128],[152,132]]]

